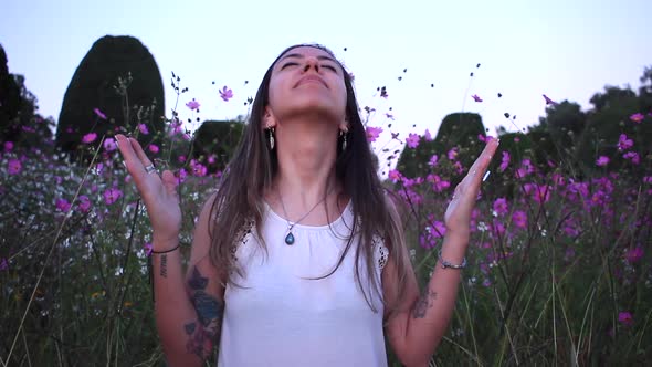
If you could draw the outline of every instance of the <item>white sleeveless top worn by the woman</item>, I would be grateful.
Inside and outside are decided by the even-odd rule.
[[[265,205],[266,206],[266,205]],[[245,271],[238,286],[227,285],[218,366],[387,366],[381,295],[366,293],[355,276],[358,237],[337,264],[353,224],[351,202],[330,226],[296,224],[293,245],[285,243],[287,222],[266,206],[259,247],[255,230],[243,235],[234,252]],[[376,276],[387,262],[387,249],[375,243]],[[368,284],[360,261],[360,279]]]

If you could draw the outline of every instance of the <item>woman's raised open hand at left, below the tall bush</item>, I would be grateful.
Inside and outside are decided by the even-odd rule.
[[[165,170],[160,176],[156,170],[147,172],[145,167],[151,165],[140,144],[134,138],[122,134],[116,135],[116,141],[127,171],[134,179],[140,198],[147,208],[155,243],[178,241],[181,230],[181,207],[177,193],[177,178]],[[168,249],[154,249],[165,251]]]

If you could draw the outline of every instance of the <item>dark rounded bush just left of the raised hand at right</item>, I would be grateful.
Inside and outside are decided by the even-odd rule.
[[[460,161],[464,167],[470,167],[484,144],[479,140],[479,135],[485,136],[482,118],[473,113],[456,113],[444,117],[437,137],[432,141],[420,138],[417,148],[406,147],[401,153],[397,169],[406,177],[424,177],[431,168],[428,161],[433,155],[442,156],[452,148],[456,148]]]

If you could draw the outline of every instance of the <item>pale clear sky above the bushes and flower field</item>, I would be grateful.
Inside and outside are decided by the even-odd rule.
[[[643,67],[652,65],[650,0],[0,2],[9,71],[27,77],[40,112],[55,119],[77,65],[106,34],[132,35],[148,48],[166,87],[167,115],[173,71],[190,87],[178,106],[181,117],[190,116],[185,103],[196,98],[202,119],[246,114],[243,102],[284,48],[322,43],[356,75],[360,106],[377,108],[370,125],[386,124],[383,113],[393,107],[392,129],[402,136],[434,134],[446,114],[460,111],[480,113],[490,134],[507,124],[505,112],[525,127],[545,114],[544,93],[587,109],[606,84],[638,88]],[[228,103],[218,95],[222,85],[234,93]],[[383,85],[387,99],[376,92]],[[473,102],[473,94],[484,102]]]

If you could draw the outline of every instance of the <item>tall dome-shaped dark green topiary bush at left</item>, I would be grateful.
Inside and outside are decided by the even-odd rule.
[[[129,99],[125,104],[127,86]],[[108,120],[98,117],[95,108]],[[116,130],[133,130],[138,124],[162,132],[164,112],[162,80],[154,56],[135,38],[106,35],[84,56],[65,92],[56,146],[75,156],[82,137],[92,132],[98,137],[112,136]],[[159,138],[139,140],[143,145],[159,144]]]

